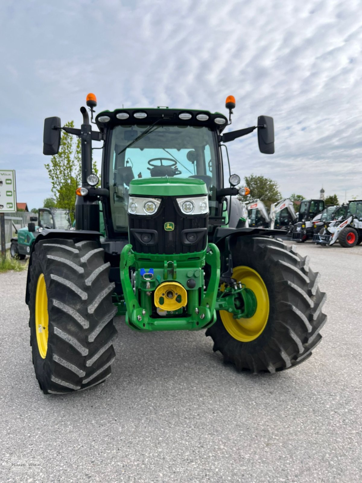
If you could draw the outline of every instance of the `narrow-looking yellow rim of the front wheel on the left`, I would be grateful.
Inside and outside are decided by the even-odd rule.
[[[37,292],[35,296],[35,333],[37,335],[39,354],[45,359],[48,349],[48,297],[44,275],[38,278]]]

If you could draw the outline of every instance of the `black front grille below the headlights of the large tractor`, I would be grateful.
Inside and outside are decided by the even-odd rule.
[[[164,198],[154,216],[128,213],[129,241],[133,250],[150,254],[201,252],[208,241],[209,214],[181,213],[176,199]],[[165,224],[173,224],[172,231]]]

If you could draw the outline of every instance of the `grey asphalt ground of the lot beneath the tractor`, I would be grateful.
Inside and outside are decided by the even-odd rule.
[[[359,482],[362,246],[297,251],[327,292],[305,364],[237,373],[203,331],[142,334],[118,318],[111,377],[67,396],[35,379],[27,273],[0,274],[0,481]]]

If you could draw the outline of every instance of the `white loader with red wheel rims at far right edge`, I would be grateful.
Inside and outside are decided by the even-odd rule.
[[[320,233],[313,236],[319,245],[333,245],[336,241],[344,248],[351,248],[362,242],[362,199],[348,202],[347,217],[341,216],[321,228]]]

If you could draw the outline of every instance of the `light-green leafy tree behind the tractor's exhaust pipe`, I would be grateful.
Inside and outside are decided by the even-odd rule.
[[[65,124],[74,128],[74,122]],[[50,162],[44,165],[52,183],[52,193],[56,199],[56,207],[70,211],[73,221],[75,211],[75,190],[81,185],[81,140],[74,138],[67,132],[62,132],[58,154],[52,156]],[[98,174],[96,163],[93,172]]]

